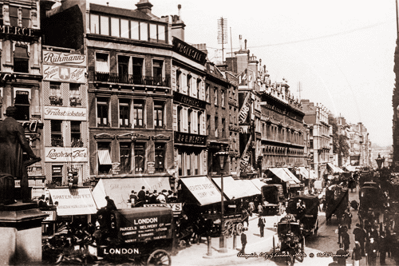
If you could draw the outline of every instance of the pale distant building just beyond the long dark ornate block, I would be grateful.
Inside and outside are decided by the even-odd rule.
[[[310,157],[311,164],[318,178],[323,178],[327,173],[327,167],[332,165],[332,127],[328,123],[330,111],[321,104],[314,104],[309,100],[301,100],[304,121],[310,126]]]

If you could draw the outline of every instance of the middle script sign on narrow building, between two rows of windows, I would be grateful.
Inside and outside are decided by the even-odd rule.
[[[86,121],[86,108],[45,106],[44,119]]]

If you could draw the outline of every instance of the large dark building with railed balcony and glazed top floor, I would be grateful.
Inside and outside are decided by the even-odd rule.
[[[148,1],[136,6],[62,1],[47,12],[44,33],[46,42],[87,56],[90,177],[160,177],[173,185],[171,25]]]

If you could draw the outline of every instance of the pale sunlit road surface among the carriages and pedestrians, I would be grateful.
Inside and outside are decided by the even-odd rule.
[[[358,201],[358,192],[349,192],[349,202],[352,200]],[[352,234],[355,224],[358,223],[357,211],[351,209],[352,212],[352,226],[349,229],[351,242],[350,254],[354,247],[354,236]],[[260,237],[258,228],[258,216],[254,214],[250,218],[247,240],[248,244],[245,248],[246,257],[238,257],[238,250],[241,249],[240,237],[236,239],[236,249],[233,249],[233,239],[227,238],[226,243],[228,253],[219,253],[219,238],[211,239],[212,255],[207,256],[207,244],[205,238],[200,244],[193,244],[181,251],[176,256],[172,257],[173,266],[196,266],[196,265],[286,265],[281,258],[265,258],[263,253],[270,252],[273,247],[273,236],[276,234],[274,224],[277,223],[282,216],[265,216],[266,227],[264,237]],[[336,253],[338,250],[338,235],[336,219],[332,219],[331,224],[326,224],[325,213],[319,212],[319,230],[317,236],[310,236],[306,239],[305,254],[306,257],[303,262],[296,262],[295,265],[317,265],[324,266],[333,262],[330,253]],[[352,265],[352,260],[347,260],[347,265]],[[366,258],[360,262],[360,265],[367,265]],[[379,266],[379,257],[377,257],[377,266]],[[389,266],[396,265],[395,262],[386,258],[386,264]]]

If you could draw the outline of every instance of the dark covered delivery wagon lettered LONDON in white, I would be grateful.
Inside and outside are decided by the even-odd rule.
[[[98,221],[102,234],[91,254],[112,262],[171,265],[175,234],[170,208],[100,210]]]

